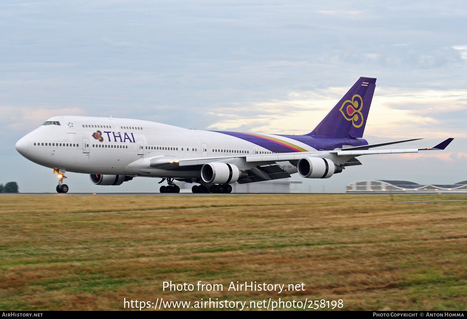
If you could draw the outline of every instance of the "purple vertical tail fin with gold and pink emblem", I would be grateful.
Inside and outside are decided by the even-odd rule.
[[[306,135],[334,138],[361,138],[367,124],[376,79],[361,77],[334,108]]]

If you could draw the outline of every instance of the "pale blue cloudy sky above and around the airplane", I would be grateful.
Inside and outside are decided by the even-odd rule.
[[[376,77],[364,138],[445,151],[359,157],[304,191],[360,180],[467,180],[465,1],[8,1],[0,3],[0,183],[55,192],[14,149],[57,115],[304,134],[360,77]],[[398,148],[400,146],[397,146]],[[155,192],[67,173],[70,192]]]

